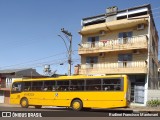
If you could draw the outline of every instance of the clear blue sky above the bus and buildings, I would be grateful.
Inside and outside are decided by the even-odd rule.
[[[73,74],[80,64],[82,18],[104,14],[111,6],[123,10],[144,4],[151,4],[159,32],[159,0],[0,0],[0,70],[34,68],[44,74],[44,65],[49,64],[58,74],[68,73],[67,49],[58,36],[69,46],[61,33],[64,28],[73,35]]]

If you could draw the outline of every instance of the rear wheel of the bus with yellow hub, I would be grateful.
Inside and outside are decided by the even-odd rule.
[[[71,103],[71,107],[73,110],[75,111],[80,111],[82,110],[83,108],[83,104],[82,104],[82,101],[81,100],[73,100],[72,103]]]

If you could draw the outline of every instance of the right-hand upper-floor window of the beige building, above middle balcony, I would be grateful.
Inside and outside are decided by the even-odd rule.
[[[118,34],[119,44],[131,42],[132,32],[121,32]]]

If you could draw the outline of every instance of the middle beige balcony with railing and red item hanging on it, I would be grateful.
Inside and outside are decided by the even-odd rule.
[[[78,53],[100,53],[120,50],[147,49],[147,35],[133,36],[131,38],[119,38],[116,40],[100,40],[99,42],[85,42],[80,44]]]

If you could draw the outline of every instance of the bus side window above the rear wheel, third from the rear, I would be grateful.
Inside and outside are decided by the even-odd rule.
[[[71,80],[70,91],[83,91],[84,80]]]

